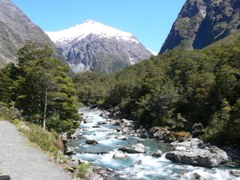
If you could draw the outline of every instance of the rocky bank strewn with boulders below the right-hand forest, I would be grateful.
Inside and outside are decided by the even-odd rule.
[[[199,135],[204,133],[203,125],[201,123],[195,123],[192,127],[191,132],[184,132],[184,131],[175,132],[175,131],[169,131],[167,128],[159,127],[159,126],[153,126],[148,129],[144,128],[143,126],[140,126],[137,123],[137,121],[122,118],[121,114],[115,111],[108,112],[105,110],[101,110],[100,116],[106,119],[112,119],[114,124],[120,126],[119,132],[123,132],[125,134],[140,137],[140,138],[150,138],[150,139],[156,139],[157,141],[160,141],[160,142],[170,143],[171,145],[173,145],[174,148],[178,148],[179,146],[180,148],[182,148],[182,146],[184,146],[183,149],[185,151],[198,150],[198,151],[204,152],[204,154],[206,154],[207,157],[209,157],[210,155],[210,153],[208,152],[209,149],[210,151],[218,151],[218,153],[221,152],[220,154],[223,154],[223,156],[225,156],[223,158],[225,159],[223,160],[223,162],[231,164],[233,166],[235,165],[240,166],[240,149],[229,147],[229,146],[222,147],[219,145],[211,145],[210,143],[204,142],[203,140],[200,140],[197,138]],[[195,148],[192,148],[190,150],[189,144],[194,144],[192,146],[195,146]],[[204,149],[205,151],[203,151]],[[224,153],[226,153],[227,155]],[[228,156],[229,158],[228,161],[226,160],[226,156]],[[222,161],[219,161],[219,162],[223,163]],[[201,166],[204,166],[204,164]],[[207,166],[208,165],[206,165],[206,167]]]

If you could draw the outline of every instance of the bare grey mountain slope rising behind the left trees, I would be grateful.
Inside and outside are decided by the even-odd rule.
[[[0,67],[17,62],[17,50],[27,40],[44,43],[62,57],[50,38],[10,0],[0,0]]]

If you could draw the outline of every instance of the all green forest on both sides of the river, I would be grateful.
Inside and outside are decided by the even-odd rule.
[[[240,38],[203,50],[173,50],[112,75],[73,75],[51,49],[28,42],[18,65],[0,70],[1,106],[13,105],[25,120],[57,132],[74,131],[80,105],[101,107],[146,128],[189,131],[239,146]]]

